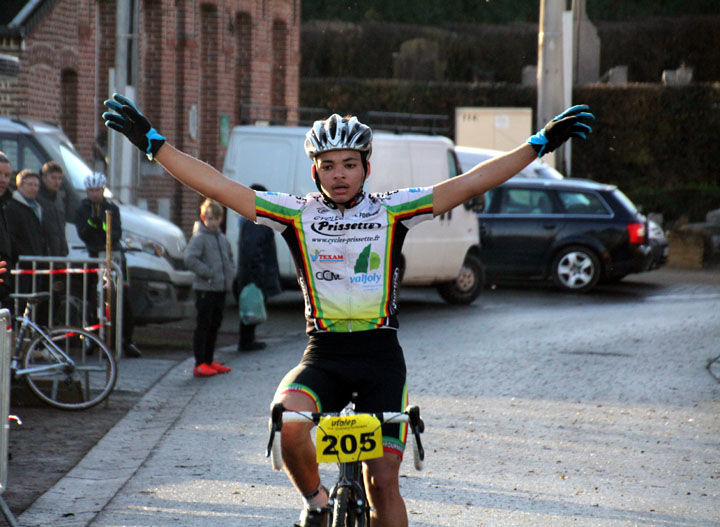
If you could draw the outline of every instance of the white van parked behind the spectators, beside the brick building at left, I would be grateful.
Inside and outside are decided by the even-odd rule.
[[[40,172],[42,165],[57,161],[63,169],[70,221],[65,233],[70,256],[86,258],[85,244],[72,223],[74,211],[85,197],[85,176],[91,170],[70,140],[56,126],[37,121],[0,117],[0,151],[15,170]],[[109,192],[106,194],[112,197]],[[194,314],[192,272],[185,269],[185,235],[175,224],[146,210],[113,201],[120,208],[122,243],[134,250],[126,253],[131,287],[129,294],[137,324],[181,320]]]

